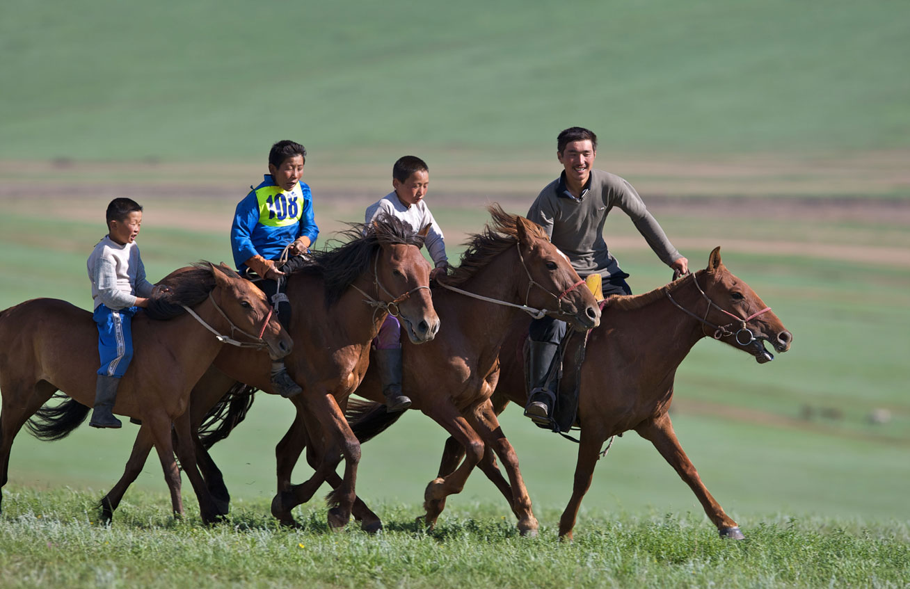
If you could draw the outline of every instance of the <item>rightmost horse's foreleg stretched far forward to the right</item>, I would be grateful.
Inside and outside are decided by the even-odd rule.
[[[694,464],[682,451],[682,445],[676,438],[676,433],[673,432],[669,414],[662,414],[656,419],[636,427],[635,431],[654,444],[654,447],[661,453],[664,460],[689,485],[695,496],[702,503],[704,513],[717,526],[717,530],[722,537],[733,538],[733,540],[743,540],[745,538],[736,522],[729,515],[723,513],[723,507],[708,492],[708,488],[702,483],[702,477],[698,475]]]

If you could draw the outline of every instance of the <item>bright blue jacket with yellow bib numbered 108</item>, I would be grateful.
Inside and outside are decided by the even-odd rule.
[[[288,244],[303,235],[311,244],[319,235],[309,186],[299,182],[286,193],[267,174],[237,205],[230,229],[234,264],[243,271],[247,267],[243,263],[254,255],[276,260]]]

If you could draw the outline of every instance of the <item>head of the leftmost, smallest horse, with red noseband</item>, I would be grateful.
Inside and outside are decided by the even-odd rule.
[[[207,263],[215,278],[217,308],[231,324],[231,331],[238,331],[248,338],[254,337],[268,347],[268,355],[278,360],[290,354],[294,346],[288,332],[278,322],[278,315],[272,313],[266,295],[253,283],[244,280],[224,263]],[[213,299],[214,300],[214,299]]]

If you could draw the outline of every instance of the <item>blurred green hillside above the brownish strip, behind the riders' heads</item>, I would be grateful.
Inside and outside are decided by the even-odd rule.
[[[0,5],[0,159],[261,159],[458,147],[551,151],[569,125],[623,153],[910,147],[910,4]]]

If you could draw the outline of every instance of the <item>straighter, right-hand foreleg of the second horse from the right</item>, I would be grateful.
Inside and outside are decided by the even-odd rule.
[[[518,467],[518,455],[515,449],[502,433],[499,420],[493,413],[490,401],[480,404],[477,412],[474,414],[475,429],[484,443],[487,444],[487,450],[483,459],[480,461],[480,468],[484,474],[496,484],[500,492],[511,497],[509,504],[512,513],[518,518],[518,529],[521,535],[536,536],[538,523],[537,518],[531,510],[531,496],[524,485],[524,479],[521,477],[521,471]],[[502,466],[509,475],[509,483],[502,478],[500,469],[496,467],[496,458],[490,453],[490,448],[500,456]]]

